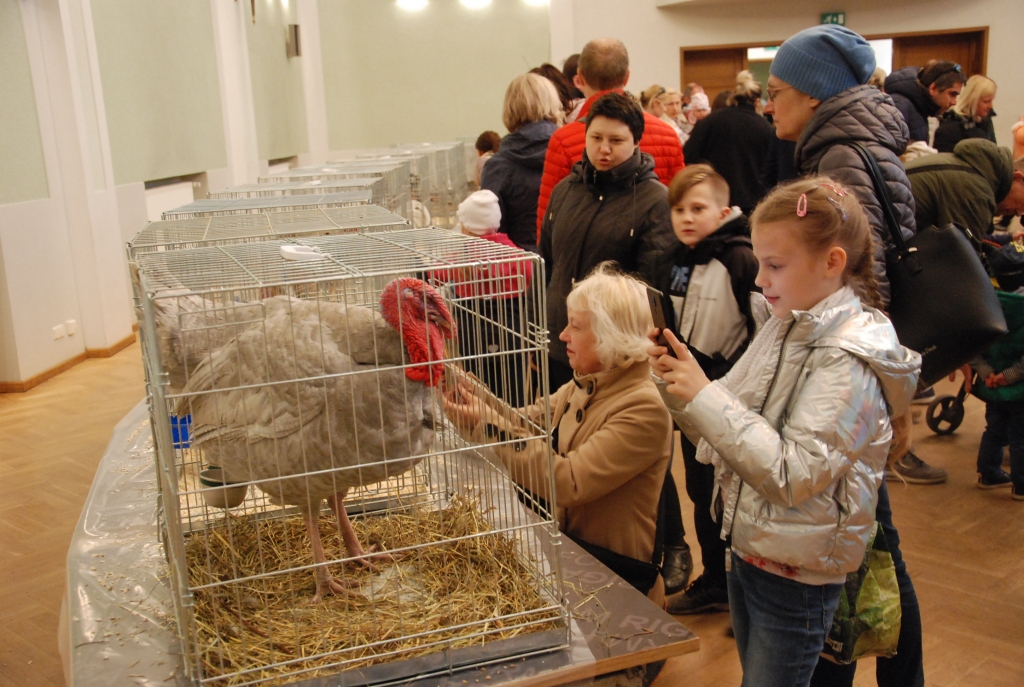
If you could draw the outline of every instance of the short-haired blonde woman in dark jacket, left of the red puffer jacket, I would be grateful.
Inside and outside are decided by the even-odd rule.
[[[484,165],[480,188],[498,197],[502,211],[499,230],[523,250],[537,251],[537,201],[544,155],[562,116],[558,91],[540,75],[518,76],[505,91],[502,122],[509,135]]]

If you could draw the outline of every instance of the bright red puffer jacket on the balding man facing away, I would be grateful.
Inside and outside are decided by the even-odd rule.
[[[544,213],[548,210],[548,202],[551,201],[551,191],[559,181],[569,175],[572,165],[583,159],[583,152],[587,147],[587,126],[584,120],[590,113],[590,106],[594,104],[594,100],[610,92],[602,91],[590,96],[580,111],[577,121],[555,131],[548,141],[548,153],[544,158],[544,176],[541,178],[541,197],[537,204],[538,244],[541,242],[541,224],[544,222]],[[622,89],[615,89],[615,92],[622,93]],[[683,146],[671,126],[650,113],[644,113],[643,119],[640,149],[654,158],[654,173],[662,183],[668,186],[672,177],[683,168]]]

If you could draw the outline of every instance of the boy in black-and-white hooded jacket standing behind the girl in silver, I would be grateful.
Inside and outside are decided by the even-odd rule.
[[[754,284],[758,260],[750,224],[739,208],[729,207],[729,184],[709,165],[689,165],[677,174],[669,186],[669,204],[680,243],[657,270],[666,326],[708,378],[716,380],[729,372],[754,336],[750,296],[760,290]],[[696,447],[685,435],[682,448],[703,573],[669,599],[669,612],[728,610],[726,543],[711,512],[715,468],[697,462]]]

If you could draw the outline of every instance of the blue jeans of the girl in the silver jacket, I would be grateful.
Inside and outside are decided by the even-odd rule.
[[[726,578],[742,687],[809,685],[843,585],[805,585],[736,554]]]

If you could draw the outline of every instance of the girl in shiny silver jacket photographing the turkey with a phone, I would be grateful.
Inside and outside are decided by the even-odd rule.
[[[710,382],[671,332],[649,353],[678,425],[716,466],[743,685],[807,685],[848,572],[874,531],[890,417],[921,357],[877,309],[873,240],[826,177],[780,186],[752,218],[758,333]]]

